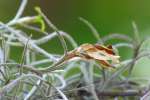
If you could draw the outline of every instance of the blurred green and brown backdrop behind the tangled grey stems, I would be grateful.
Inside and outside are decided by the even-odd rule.
[[[111,33],[133,35],[135,21],[141,37],[150,32],[150,0],[28,0],[24,16],[36,15],[35,6],[61,30],[68,32],[78,44],[95,43],[90,29],[79,17],[91,22],[100,36]],[[8,22],[15,16],[20,0],[0,0],[0,21]],[[37,35],[37,34],[34,34]],[[57,46],[56,46],[57,45]],[[54,53],[62,52],[58,42],[49,45]],[[48,48],[47,46],[45,48]],[[130,55],[129,52],[123,53]]]

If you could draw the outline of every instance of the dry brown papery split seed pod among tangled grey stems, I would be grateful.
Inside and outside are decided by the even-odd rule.
[[[80,57],[85,60],[95,60],[103,68],[113,68],[112,64],[119,63],[120,56],[116,55],[112,45],[103,46],[99,44],[82,44],[75,50],[71,51],[70,58]]]

